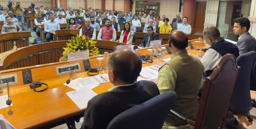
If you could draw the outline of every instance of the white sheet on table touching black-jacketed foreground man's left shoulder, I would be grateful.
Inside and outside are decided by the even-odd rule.
[[[89,88],[82,88],[80,90],[74,90],[66,93],[70,99],[78,106],[80,109],[87,107],[88,101],[97,95],[94,91]]]

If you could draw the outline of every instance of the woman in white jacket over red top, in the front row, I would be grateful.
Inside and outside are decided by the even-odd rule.
[[[134,32],[131,31],[130,24],[128,22],[125,22],[124,30],[122,30],[122,32],[121,32],[119,42],[131,44],[133,41],[133,35],[134,35]]]

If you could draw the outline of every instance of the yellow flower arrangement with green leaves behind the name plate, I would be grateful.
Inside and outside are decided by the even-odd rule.
[[[62,55],[65,57],[65,60],[68,60],[68,53],[73,51],[81,51],[89,49],[89,56],[94,56],[99,53],[99,48],[96,45],[97,41],[93,41],[86,35],[72,37],[68,41],[67,46],[63,47],[64,51]]]

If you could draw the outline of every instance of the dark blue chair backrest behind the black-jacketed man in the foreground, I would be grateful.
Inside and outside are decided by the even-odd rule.
[[[175,100],[174,91],[164,92],[117,115],[107,129],[160,129]]]

